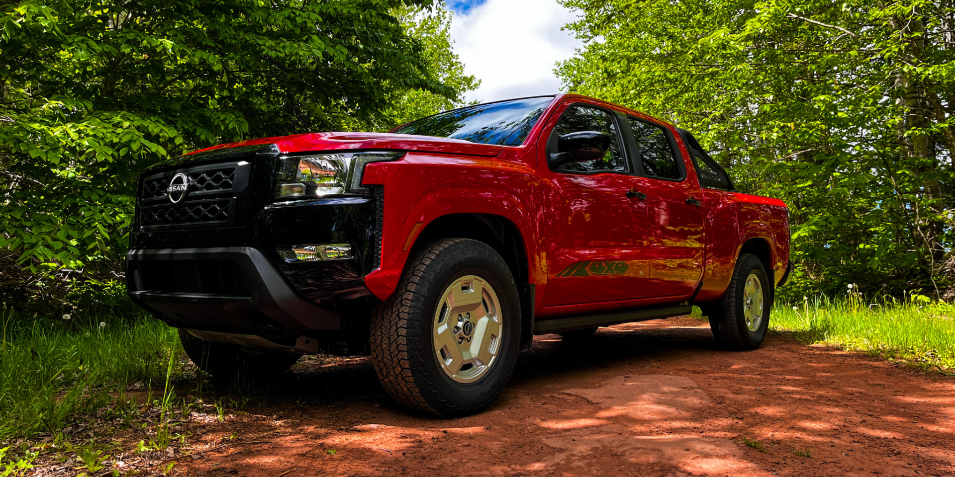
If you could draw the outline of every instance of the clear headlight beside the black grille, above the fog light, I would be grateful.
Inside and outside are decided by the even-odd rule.
[[[325,197],[365,192],[365,164],[397,160],[401,152],[330,153],[283,157],[275,180],[275,198]]]

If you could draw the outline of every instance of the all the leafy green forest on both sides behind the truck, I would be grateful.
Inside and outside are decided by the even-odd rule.
[[[696,134],[790,204],[784,299],[955,298],[950,0],[565,0],[564,88]],[[387,131],[477,88],[429,0],[0,0],[0,297],[117,311],[139,172],[205,146]],[[553,92],[541,92],[553,93]]]

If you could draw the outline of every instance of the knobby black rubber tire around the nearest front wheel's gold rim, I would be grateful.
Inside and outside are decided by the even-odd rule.
[[[487,280],[498,294],[502,337],[486,374],[462,384],[437,363],[432,321],[442,292],[467,275]],[[374,372],[398,404],[445,417],[486,408],[510,379],[520,347],[518,286],[507,263],[472,239],[441,239],[417,248],[392,297],[371,313],[370,344]]]

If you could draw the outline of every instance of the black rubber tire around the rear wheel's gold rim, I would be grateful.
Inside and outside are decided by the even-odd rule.
[[[755,331],[749,329],[744,317],[744,287],[747,278],[755,273],[762,280],[763,307],[762,320]],[[766,274],[762,261],[752,254],[740,254],[736,260],[736,267],[732,272],[732,280],[727,288],[723,300],[703,307],[704,314],[710,317],[710,328],[713,338],[722,347],[749,351],[759,347],[766,339],[766,330],[770,324],[770,308],[772,305],[772,282]]]

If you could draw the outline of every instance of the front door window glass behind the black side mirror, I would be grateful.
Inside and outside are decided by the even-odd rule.
[[[617,128],[609,113],[586,106],[571,106],[563,112],[561,120],[557,122],[554,135],[560,137],[581,131],[598,131],[610,135],[610,150],[602,159],[563,164],[560,171],[580,173],[606,171],[625,174],[628,172]]]

